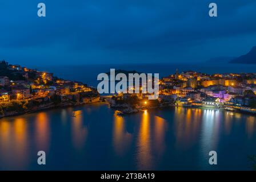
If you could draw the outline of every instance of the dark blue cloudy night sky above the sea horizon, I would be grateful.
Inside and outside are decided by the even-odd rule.
[[[255,0],[2,0],[0,15],[0,59],[22,65],[198,62],[256,46]]]

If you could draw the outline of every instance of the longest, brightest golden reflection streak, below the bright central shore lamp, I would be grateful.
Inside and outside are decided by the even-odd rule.
[[[151,168],[150,119],[147,110],[142,114],[138,135],[138,169]]]

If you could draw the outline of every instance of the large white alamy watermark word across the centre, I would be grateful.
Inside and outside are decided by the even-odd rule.
[[[149,100],[155,100],[159,96],[159,73],[125,73],[115,75],[115,69],[110,69],[110,74],[100,73],[97,90],[102,93],[142,93],[149,94]],[[116,84],[116,81],[117,84]]]

